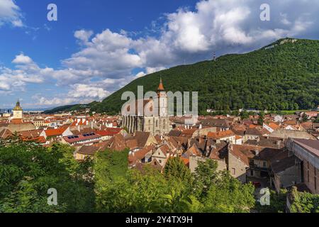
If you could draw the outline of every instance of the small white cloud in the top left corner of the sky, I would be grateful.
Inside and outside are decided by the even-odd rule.
[[[4,23],[11,23],[12,26],[22,27],[22,18],[20,8],[13,0],[0,1],[0,27]]]

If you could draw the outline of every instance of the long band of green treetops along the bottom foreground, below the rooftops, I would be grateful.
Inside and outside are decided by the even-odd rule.
[[[128,168],[128,150],[105,150],[77,162],[73,148],[6,141],[0,145],[0,212],[247,212],[254,188],[213,160],[194,174],[180,158],[164,174],[150,165]],[[57,189],[58,205],[47,204],[47,189]]]

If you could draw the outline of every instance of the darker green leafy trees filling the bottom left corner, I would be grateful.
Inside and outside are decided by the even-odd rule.
[[[72,148],[0,141],[0,212],[94,211],[89,160],[74,160]],[[47,189],[57,189],[57,206],[47,204]]]

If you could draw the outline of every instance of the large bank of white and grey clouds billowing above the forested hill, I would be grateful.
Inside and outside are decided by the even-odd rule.
[[[4,23],[3,2],[11,1],[0,3],[0,24]],[[109,29],[96,34],[84,29],[75,31],[80,50],[62,60],[60,69],[41,68],[30,57],[17,55],[12,61],[16,64],[15,70],[0,68],[0,91],[24,89],[28,83],[41,83],[50,78],[55,85],[69,90],[56,99],[38,97],[40,104],[101,100],[137,77],[174,65],[211,59],[213,51],[218,55],[247,52],[287,36],[316,34],[318,37],[319,28],[315,23],[318,1],[269,0],[271,21],[260,21],[262,3],[198,1],[194,10],[178,9],[164,14],[161,26],[152,23],[152,29],[157,29],[153,36],[141,33],[137,36],[123,30],[116,33]],[[21,19],[18,6],[11,8],[18,13],[16,19]],[[138,74],[133,74],[136,69],[140,69]]]

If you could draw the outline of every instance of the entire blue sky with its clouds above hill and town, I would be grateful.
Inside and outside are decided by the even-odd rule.
[[[47,5],[57,21],[47,21]],[[261,21],[262,3],[271,21]],[[0,109],[101,100],[133,79],[286,36],[318,39],[319,1],[0,0]]]

